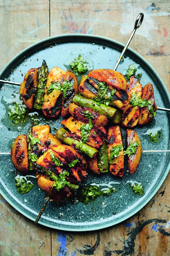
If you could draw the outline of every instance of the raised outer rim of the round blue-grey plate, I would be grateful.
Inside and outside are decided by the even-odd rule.
[[[104,40],[104,41],[106,41],[106,42],[109,41],[111,44],[117,44],[118,46],[124,47],[124,44],[122,44],[121,42],[118,42],[118,41],[113,40],[113,39],[108,38],[108,37],[98,36],[98,35],[87,35],[87,34],[61,34],[61,35],[57,35],[57,36],[47,37],[47,38],[44,38],[43,40],[40,40],[40,41],[38,41],[38,42],[36,42],[36,43],[34,43],[34,44],[32,44],[32,45],[26,47],[25,49],[23,49],[22,51],[20,51],[18,54],[16,54],[16,55],[5,65],[5,67],[1,70],[1,72],[0,72],[0,77],[1,77],[1,75],[3,74],[3,72],[5,71],[5,69],[7,69],[7,68],[10,66],[10,64],[12,64],[14,61],[16,61],[16,60],[19,58],[20,55],[24,54],[25,52],[29,51],[30,49],[33,49],[34,47],[36,47],[36,46],[38,46],[38,45],[43,44],[44,42],[47,42],[47,41],[49,41],[49,40],[60,39],[60,38],[63,38],[63,37],[65,37],[65,38],[66,38],[66,37],[74,37],[74,38],[76,38],[76,37],[79,37],[79,38],[81,38],[81,37],[83,37],[83,38],[94,38],[94,40],[96,40],[96,41],[98,41],[98,40]],[[69,40],[68,40],[68,41],[69,41]],[[53,42],[52,42],[52,44],[53,44]],[[44,45],[44,46],[45,46],[45,45]],[[160,80],[161,84],[163,85],[164,90],[165,90],[165,92],[166,92],[166,94],[167,94],[167,100],[168,100],[167,104],[169,103],[169,105],[170,105],[170,95],[169,95],[169,91],[167,90],[167,88],[166,88],[164,82],[162,81],[160,75],[156,72],[156,70],[152,67],[152,65],[151,65],[146,59],[144,59],[140,54],[138,54],[136,51],[134,51],[134,50],[131,49],[130,47],[128,47],[127,51],[129,51],[129,52],[132,53],[133,55],[137,55],[137,57],[138,57],[139,59],[141,59],[141,60],[150,68],[151,72],[152,72],[152,73],[154,72],[154,73],[156,74],[156,76],[159,78],[159,80]],[[53,228],[53,229],[58,229],[58,230],[64,230],[64,231],[72,231],[72,232],[84,232],[84,231],[92,231],[92,230],[94,231],[94,230],[99,230],[99,229],[103,229],[103,228],[107,228],[107,227],[112,227],[113,225],[116,225],[116,224],[118,224],[118,223],[121,223],[122,221],[124,221],[124,220],[126,220],[126,219],[132,217],[134,214],[136,214],[138,211],[140,211],[140,210],[151,200],[151,198],[156,194],[156,192],[160,189],[160,187],[161,187],[161,185],[163,184],[165,178],[167,177],[167,174],[169,173],[169,170],[170,170],[170,160],[169,160],[169,163],[168,163],[168,165],[167,165],[167,167],[166,167],[166,170],[165,170],[165,172],[163,173],[161,179],[159,180],[159,182],[158,182],[156,188],[150,193],[150,195],[147,196],[147,198],[146,198],[144,201],[141,202],[140,206],[138,206],[137,209],[133,209],[132,211],[129,211],[128,214],[122,216],[122,217],[121,217],[120,219],[118,219],[118,220],[115,220],[115,221],[113,220],[113,221],[106,222],[106,223],[102,223],[102,222],[101,222],[101,223],[99,223],[99,224],[94,224],[94,225],[92,225],[92,226],[90,226],[90,227],[89,227],[89,226],[88,226],[88,227],[86,227],[86,226],[81,226],[81,225],[80,225],[80,226],[77,226],[77,227],[76,227],[76,225],[74,225],[74,226],[70,226],[70,225],[66,226],[65,224],[64,224],[63,227],[62,227],[62,226],[57,226],[57,225],[54,226],[54,225],[52,225],[52,224],[50,224],[50,223],[44,223],[43,221],[41,221],[41,219],[39,220],[38,223],[41,224],[41,225],[43,225],[43,226],[45,226],[45,227],[48,227],[48,228]],[[24,212],[24,211],[23,211],[22,209],[20,209],[20,207],[17,206],[17,205],[14,206],[13,201],[12,201],[12,197],[8,198],[8,195],[6,195],[6,194],[1,190],[1,188],[0,188],[0,193],[1,193],[1,195],[5,198],[5,200],[6,200],[12,207],[14,207],[17,211],[20,212],[20,214],[24,215],[25,217],[27,217],[28,219],[30,219],[30,220],[32,220],[32,221],[35,221],[35,219],[34,219],[32,216],[30,216],[29,214],[27,214],[26,211]],[[89,225],[90,225],[90,224],[89,224]],[[74,228],[72,228],[72,227],[74,227]]]

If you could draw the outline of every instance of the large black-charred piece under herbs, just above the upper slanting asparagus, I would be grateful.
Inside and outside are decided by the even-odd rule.
[[[79,85],[79,91],[81,95],[88,99],[94,99],[98,95],[98,83],[99,81],[95,78],[89,77],[83,79]],[[108,92],[111,92],[113,88],[109,85]],[[119,109],[122,109],[124,106],[129,104],[130,95],[127,90],[117,89],[112,97],[113,101],[109,105],[117,106]]]

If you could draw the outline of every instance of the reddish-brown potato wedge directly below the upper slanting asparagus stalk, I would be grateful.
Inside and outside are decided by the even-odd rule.
[[[70,103],[69,105],[70,114],[75,119],[87,124],[89,122],[89,119],[86,117],[87,114],[84,113],[85,111],[89,111],[89,113],[93,116],[93,119],[91,120],[92,124],[95,124],[97,126],[105,126],[108,123],[109,119],[107,118],[107,116],[98,114],[90,108],[80,107],[74,103]]]

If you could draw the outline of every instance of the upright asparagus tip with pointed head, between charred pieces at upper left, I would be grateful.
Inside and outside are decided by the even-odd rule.
[[[37,92],[35,95],[34,108],[42,109],[44,102],[44,89],[46,87],[48,77],[48,67],[46,61],[43,60],[42,66],[38,69]]]

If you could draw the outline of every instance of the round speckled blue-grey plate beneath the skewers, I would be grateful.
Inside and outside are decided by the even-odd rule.
[[[94,69],[112,69],[122,49],[123,45],[121,43],[99,36],[55,36],[40,41],[20,52],[2,70],[0,78],[21,82],[23,80],[22,74],[25,74],[30,68],[39,67],[43,59],[46,60],[49,70],[54,66],[66,70],[64,66],[65,61],[70,58],[70,55],[78,55],[80,53],[93,60]],[[160,107],[170,108],[169,93],[160,76],[151,65],[131,49],[127,50],[126,58],[123,60],[117,71],[123,72],[132,63],[137,66],[140,65],[142,85],[144,86],[148,82],[152,83],[156,104]],[[15,101],[19,87],[7,84],[1,84],[0,86],[0,151],[6,152],[10,151],[11,143],[18,134],[27,133],[32,120],[28,117],[27,122],[24,124],[12,126],[8,118],[8,105]],[[34,111],[36,110],[29,112],[33,113]],[[47,120],[44,119],[41,112],[38,114],[40,124],[51,125],[51,132],[53,134],[56,132],[56,128],[61,127],[61,117],[55,120]],[[135,128],[135,131],[141,138],[143,150],[170,149],[169,120],[170,115],[168,113],[157,111],[157,115],[151,125],[137,126]],[[151,143],[148,140],[148,136],[143,135],[143,133],[149,128],[157,127],[161,127],[161,139],[159,143]],[[121,130],[125,146],[126,129],[122,128]],[[86,184],[94,182],[97,184],[108,184],[112,182],[112,185],[118,191],[110,196],[100,196],[94,203],[91,202],[88,205],[82,203],[72,205],[71,202],[55,205],[53,202],[50,202],[44,210],[39,224],[61,230],[87,231],[106,228],[120,223],[139,211],[154,196],[170,169],[169,159],[169,153],[143,153],[137,172],[133,175],[127,173],[128,168],[126,164],[123,178],[116,178],[109,173],[99,177],[89,173]],[[32,181],[35,183],[33,189],[27,194],[18,194],[15,188],[14,170],[10,156],[0,156],[0,193],[16,210],[34,221],[42,207],[45,194],[38,189],[34,178],[32,178]],[[142,196],[133,193],[128,184],[130,180],[142,183],[145,191]],[[59,216],[61,218],[58,218]]]

